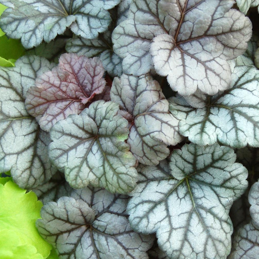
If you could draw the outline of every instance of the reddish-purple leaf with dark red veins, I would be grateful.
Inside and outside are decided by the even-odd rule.
[[[99,58],[63,54],[59,66],[36,79],[27,93],[26,109],[43,130],[69,114],[78,114],[104,91],[104,68]]]

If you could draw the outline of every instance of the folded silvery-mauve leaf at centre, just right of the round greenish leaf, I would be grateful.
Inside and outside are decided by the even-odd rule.
[[[169,112],[169,103],[151,75],[123,74],[121,79],[113,80],[110,95],[112,101],[120,104],[120,114],[129,121],[127,143],[140,163],[157,165],[169,155],[167,145],[182,140],[179,121]]]

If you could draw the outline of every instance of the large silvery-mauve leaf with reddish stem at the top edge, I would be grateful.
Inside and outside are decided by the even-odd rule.
[[[115,28],[114,51],[124,73],[152,69],[167,76],[173,90],[209,95],[226,89],[227,60],[245,52],[250,20],[233,10],[233,0],[133,0],[128,19]],[[153,62],[152,62],[153,59]]]

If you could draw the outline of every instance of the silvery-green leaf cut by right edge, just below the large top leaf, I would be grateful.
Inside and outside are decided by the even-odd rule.
[[[180,120],[183,136],[199,145],[219,142],[235,148],[259,146],[259,71],[238,66],[232,74],[231,88],[207,97],[204,108],[195,109],[183,98],[173,98],[170,109]]]

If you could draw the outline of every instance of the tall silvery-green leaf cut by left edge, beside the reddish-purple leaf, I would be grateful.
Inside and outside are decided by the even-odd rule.
[[[15,182],[32,189],[56,172],[48,157],[49,135],[25,108],[35,78],[53,66],[44,58],[25,56],[15,68],[0,68],[0,171],[11,169]]]

